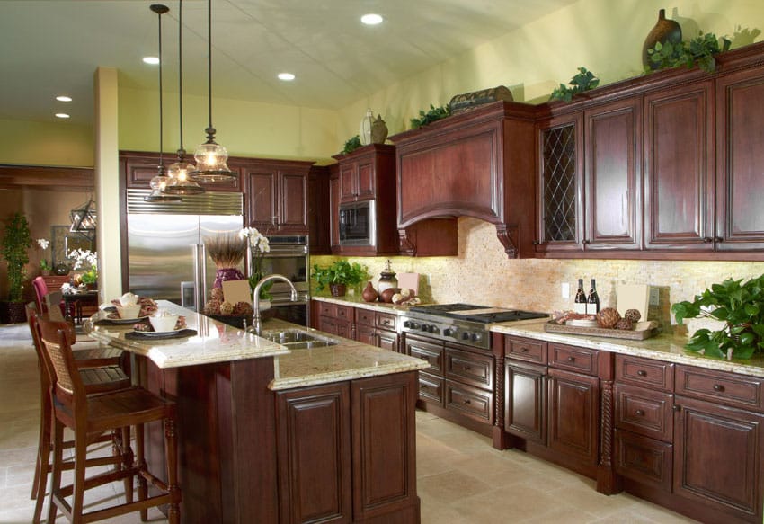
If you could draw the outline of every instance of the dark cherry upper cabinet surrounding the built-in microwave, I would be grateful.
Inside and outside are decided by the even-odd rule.
[[[332,252],[344,256],[395,255],[395,146],[370,144],[347,155],[334,155],[336,180],[330,189]],[[374,200],[376,238],[374,245],[340,245],[339,209],[344,203]]]

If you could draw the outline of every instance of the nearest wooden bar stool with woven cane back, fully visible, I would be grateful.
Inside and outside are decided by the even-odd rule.
[[[138,386],[101,395],[86,394],[83,379],[76,368],[74,355],[67,339],[67,324],[39,318],[40,339],[45,351],[45,364],[51,379],[50,397],[53,404],[53,471],[48,522],[56,521],[62,511],[72,522],[92,522],[140,511],[147,519],[147,509],[168,504],[167,517],[171,524],[180,522],[181,489],[178,486],[178,450],[175,439],[175,404]],[[144,457],[143,426],[148,422],[164,422],[164,447],[167,482],[147,469]],[[134,463],[119,471],[85,478],[87,444],[93,435],[105,431],[135,426],[136,455]],[[61,486],[63,465],[63,434],[67,427],[75,434],[74,482]],[[128,453],[129,442],[125,443]],[[102,510],[84,512],[84,492],[95,486],[138,476],[138,501],[127,496],[127,502]],[[159,494],[148,496],[147,482]],[[69,504],[66,497],[71,496]]]

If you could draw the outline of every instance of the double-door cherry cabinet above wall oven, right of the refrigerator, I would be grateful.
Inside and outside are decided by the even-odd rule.
[[[270,235],[307,235],[311,164],[271,161],[243,168],[247,223]]]

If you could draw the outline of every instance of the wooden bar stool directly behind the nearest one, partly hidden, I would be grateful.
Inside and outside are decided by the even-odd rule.
[[[44,349],[42,348],[42,342],[40,341],[40,330],[38,328],[38,314],[37,307],[33,302],[26,305],[27,321],[30,326],[32,342],[34,342],[34,349],[37,352],[38,366],[40,368],[40,437],[37,445],[37,461],[34,468],[34,480],[31,484],[31,499],[36,500],[34,504],[34,515],[32,522],[37,524],[40,522],[40,515],[42,513],[42,504],[45,500],[45,488],[48,484],[48,474],[51,470],[50,464],[50,423],[53,416],[53,408],[50,405],[50,378],[48,369],[45,366],[45,357],[43,355]],[[67,333],[70,338],[73,332]],[[88,395],[103,393],[107,391],[114,391],[116,389],[122,389],[130,386],[130,377],[117,365],[111,366],[91,366],[89,362],[84,362],[88,365],[87,368],[80,369],[79,373],[82,376],[85,390]],[[117,439],[114,440],[111,435],[105,435],[95,440],[97,442],[108,442],[113,440],[113,445],[116,448],[124,446],[124,442],[129,443],[129,431],[121,431],[117,435]],[[71,448],[73,442],[65,443],[65,447]],[[97,459],[98,465],[106,464],[118,464],[122,461],[122,457],[112,458],[100,458]],[[64,467],[71,469],[74,463],[65,462]],[[93,466],[96,465],[93,463]],[[129,465],[128,465],[129,466]],[[130,484],[130,488],[132,484]],[[129,489],[126,485],[126,490]]]

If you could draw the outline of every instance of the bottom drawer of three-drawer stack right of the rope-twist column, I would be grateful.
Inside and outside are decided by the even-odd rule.
[[[616,430],[615,456],[618,475],[665,492],[671,491],[671,444]]]

